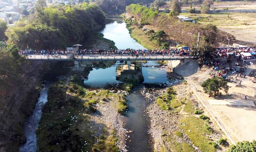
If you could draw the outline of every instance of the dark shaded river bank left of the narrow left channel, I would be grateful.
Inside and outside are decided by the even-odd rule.
[[[26,142],[24,124],[35,108],[41,80],[50,64],[29,61],[21,68],[22,78],[17,77],[18,82],[10,81],[5,87],[5,95],[0,96],[1,152],[17,152],[19,146]]]

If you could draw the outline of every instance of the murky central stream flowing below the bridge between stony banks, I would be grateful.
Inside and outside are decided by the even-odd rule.
[[[144,110],[146,109],[146,100],[140,93],[143,85],[132,90],[127,96],[129,111],[124,117],[125,127],[129,131],[131,138],[128,139],[126,145],[130,152],[153,152],[151,138],[148,132],[148,120]]]

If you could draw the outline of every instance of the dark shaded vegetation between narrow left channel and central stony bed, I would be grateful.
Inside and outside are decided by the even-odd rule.
[[[98,124],[105,127],[98,129],[101,136],[96,136],[91,129],[96,124],[91,122],[89,115],[97,110],[96,104],[100,101],[113,102],[121,114],[128,108],[122,94],[108,90],[96,93],[74,82],[53,84],[48,91],[48,102],[43,107],[37,130],[39,150],[117,152],[115,131]]]

